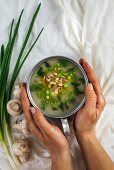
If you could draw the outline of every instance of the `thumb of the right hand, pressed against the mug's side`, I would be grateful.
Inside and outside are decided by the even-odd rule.
[[[95,108],[96,102],[97,102],[97,96],[94,91],[93,85],[90,83],[85,88],[85,94],[86,94],[86,108]]]

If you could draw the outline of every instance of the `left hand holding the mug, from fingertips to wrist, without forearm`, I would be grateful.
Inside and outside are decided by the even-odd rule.
[[[61,130],[50,124],[43,114],[30,106],[25,85],[21,88],[22,107],[25,113],[29,131],[40,139],[48,148],[52,159],[61,159],[62,156],[70,154],[69,143]]]

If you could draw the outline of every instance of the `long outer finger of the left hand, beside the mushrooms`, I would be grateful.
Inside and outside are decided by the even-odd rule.
[[[25,89],[25,84],[23,83],[21,86],[21,100],[22,100],[22,107],[23,107],[23,111],[25,113],[26,119],[27,119],[27,124],[29,127],[30,132],[39,137],[41,140],[43,140],[43,136],[40,132],[40,129],[38,129],[38,127],[36,126],[36,124],[33,121],[33,118],[30,114],[30,103],[26,94],[26,89]]]

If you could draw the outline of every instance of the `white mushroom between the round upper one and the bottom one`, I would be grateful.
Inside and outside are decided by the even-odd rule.
[[[16,121],[15,124],[12,126],[14,129],[20,130],[24,135],[29,135],[28,125],[26,119],[21,121]]]

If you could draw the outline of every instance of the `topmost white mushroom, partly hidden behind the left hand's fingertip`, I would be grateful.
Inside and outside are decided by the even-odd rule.
[[[15,99],[21,98],[21,83],[14,86],[13,97]]]

